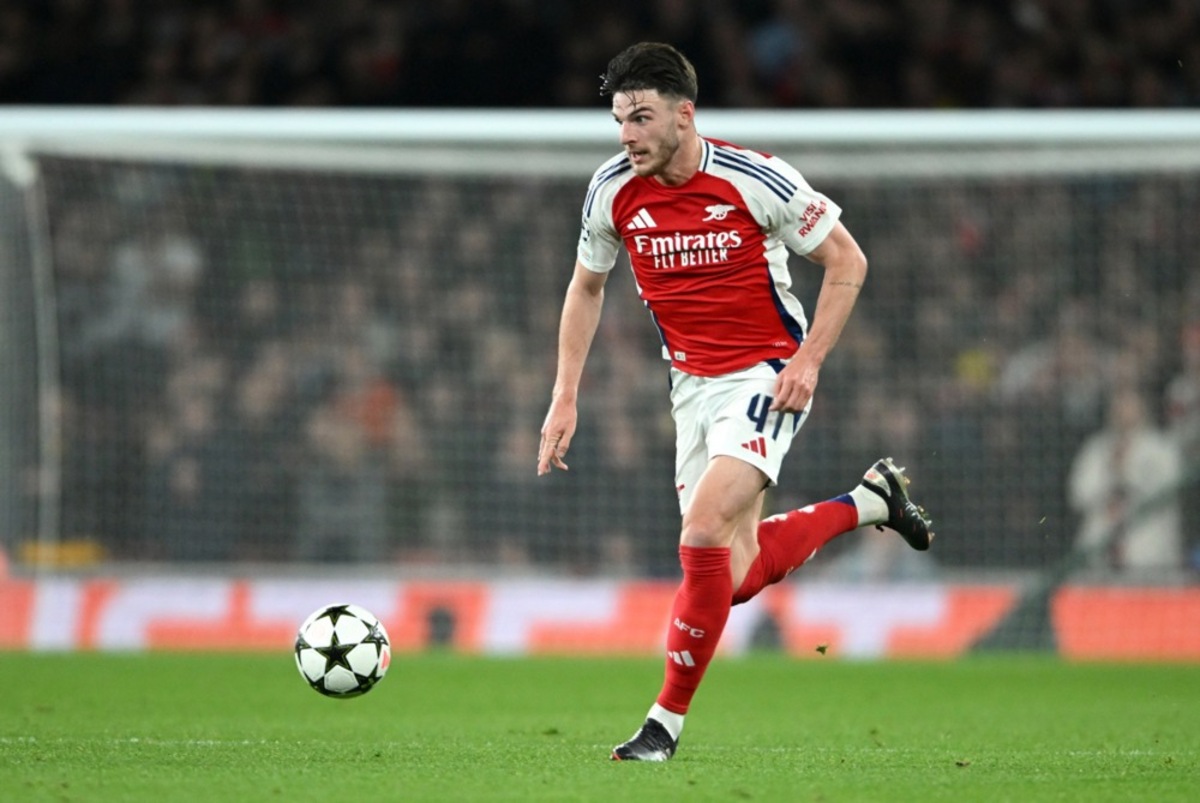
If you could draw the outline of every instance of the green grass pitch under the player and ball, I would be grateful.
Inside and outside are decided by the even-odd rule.
[[[2,801],[1195,801],[1200,667],[719,659],[676,759],[608,761],[660,663],[0,653]]]

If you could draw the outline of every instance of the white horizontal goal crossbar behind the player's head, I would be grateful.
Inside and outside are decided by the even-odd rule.
[[[1195,110],[714,109],[702,110],[697,122],[704,136],[786,157],[804,152],[805,174],[814,178],[834,172],[906,176],[1200,164]],[[588,175],[614,143],[604,109],[0,110],[0,146],[8,169],[18,174],[13,164],[22,154],[36,151],[311,169]],[[905,158],[896,158],[896,151]]]

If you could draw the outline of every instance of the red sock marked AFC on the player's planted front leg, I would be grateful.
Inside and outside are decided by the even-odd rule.
[[[728,547],[680,546],[683,582],[671,606],[666,677],[658,703],[686,714],[730,618],[733,579]]]

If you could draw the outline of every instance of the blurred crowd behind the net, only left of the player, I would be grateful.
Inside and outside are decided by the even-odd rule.
[[[70,538],[163,559],[631,565],[628,538],[589,551],[605,517],[574,475],[534,486],[581,187],[46,167]],[[611,417],[574,454],[649,529],[677,516],[671,439],[631,312],[592,379]]]

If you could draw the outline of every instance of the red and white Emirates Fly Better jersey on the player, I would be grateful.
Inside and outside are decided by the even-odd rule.
[[[664,356],[712,377],[787,359],[804,340],[787,251],[805,254],[841,209],[787,162],[703,139],[700,170],[668,187],[640,178],[624,154],[592,176],[578,260],[607,272],[622,244]]]

